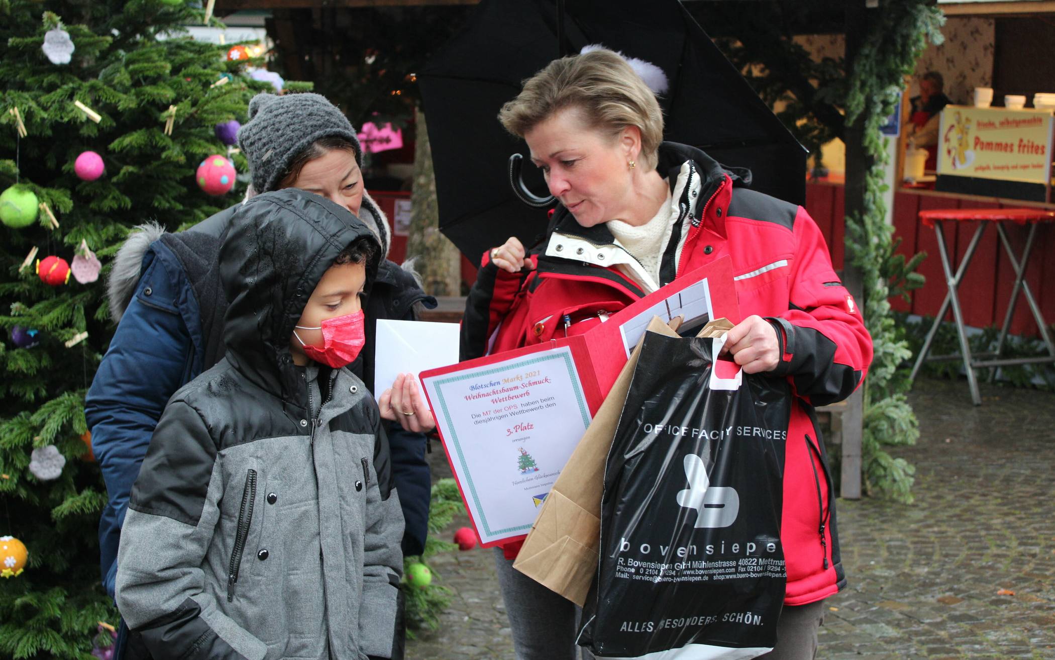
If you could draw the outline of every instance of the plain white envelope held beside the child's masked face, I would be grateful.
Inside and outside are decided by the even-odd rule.
[[[414,374],[417,380],[423,371],[457,363],[458,339],[458,323],[378,319],[373,395],[392,386],[399,374]]]

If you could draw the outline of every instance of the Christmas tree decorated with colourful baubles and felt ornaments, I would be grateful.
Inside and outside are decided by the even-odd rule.
[[[230,155],[216,125],[271,90],[239,73],[258,60],[186,37],[204,20],[183,0],[0,0],[0,658],[84,658],[117,622],[83,413],[113,332],[107,258],[136,224],[241,199],[231,164],[203,159]]]

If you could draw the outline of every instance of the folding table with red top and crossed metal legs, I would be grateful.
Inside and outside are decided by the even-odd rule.
[[[938,316],[934,320],[934,325],[931,327],[931,332],[927,333],[926,340],[923,342],[923,348],[916,358],[916,365],[913,366],[912,378],[916,378],[916,374],[919,372],[924,360],[963,360],[963,364],[967,372],[967,384],[971,386],[971,399],[975,402],[975,406],[980,406],[982,399],[978,394],[978,381],[975,378],[975,369],[1055,362],[1055,343],[1052,343],[1051,335],[1048,333],[1048,324],[1044,322],[1043,315],[1040,314],[1040,306],[1037,304],[1037,300],[1034,298],[1033,291],[1030,290],[1030,284],[1024,280],[1025,267],[1030,261],[1030,253],[1033,250],[1034,239],[1037,234],[1037,227],[1039,227],[1042,223],[1055,222],[1055,211],[1041,208],[935,209],[920,211],[920,220],[927,227],[934,227],[935,232],[938,234],[938,252],[941,254],[941,267],[945,271],[945,283],[948,285],[948,294],[945,296],[944,302],[941,303],[941,308],[938,310]],[[975,230],[975,234],[971,238],[967,250],[963,253],[963,259],[960,260],[960,264],[957,266],[956,272],[954,274],[952,260],[948,258],[948,252],[945,249],[945,234],[941,229],[941,225],[943,222],[973,221],[978,221],[978,229]],[[1015,252],[1011,247],[1011,241],[1008,239],[1008,233],[1004,231],[1003,225],[1001,224],[1004,222],[1030,225],[1030,231],[1025,239],[1025,248],[1022,250],[1021,259],[1018,259],[1015,256]],[[990,225],[990,223],[996,225],[996,231],[1000,235],[1000,243],[1003,244],[1003,249],[1008,252],[1008,259],[1011,261],[1012,268],[1015,269],[1015,285],[1011,289],[1011,301],[1008,303],[1008,313],[1003,318],[1003,326],[1000,328],[1000,337],[997,340],[996,351],[994,353],[972,356],[971,346],[967,343],[966,329],[963,324],[963,312],[960,308],[960,299],[957,295],[957,286],[959,286],[960,280],[963,278],[963,274],[966,272],[967,265],[971,263],[971,258],[974,257],[975,248],[978,247],[978,242],[981,240],[982,233],[985,231],[985,228]],[[1030,305],[1030,312],[1033,313],[1033,318],[1040,327],[1040,337],[1048,345],[1047,356],[1041,355],[1027,358],[1000,357],[1004,340],[1008,337],[1008,328],[1011,326],[1011,319],[1015,314],[1015,302],[1018,300],[1019,291],[1025,295],[1025,302]],[[948,310],[950,304],[953,305],[953,318],[956,321],[956,332],[960,337],[961,354],[934,356],[928,358],[927,353],[931,351],[931,343],[934,341],[934,337],[938,332],[938,326],[941,325],[941,321],[945,317],[945,312]],[[977,358],[992,359],[978,360]]]

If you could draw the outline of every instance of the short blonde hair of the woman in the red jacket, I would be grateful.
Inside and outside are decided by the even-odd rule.
[[[591,128],[616,134],[635,126],[641,132],[638,156],[655,169],[663,140],[663,111],[655,94],[617,53],[598,49],[553,60],[524,81],[517,97],[502,106],[498,120],[523,137],[565,108],[581,111]]]

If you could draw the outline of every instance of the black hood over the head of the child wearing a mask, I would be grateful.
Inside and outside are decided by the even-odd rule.
[[[299,383],[289,338],[323,274],[357,239],[378,249],[367,264],[367,295],[381,259],[376,234],[347,209],[287,188],[256,195],[232,215],[219,248],[227,298],[227,359],[265,390],[293,397]]]

